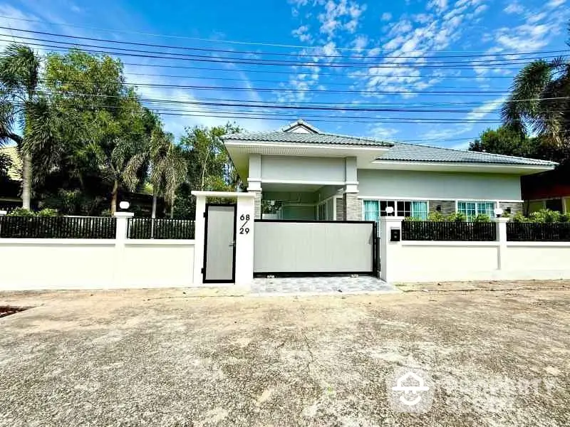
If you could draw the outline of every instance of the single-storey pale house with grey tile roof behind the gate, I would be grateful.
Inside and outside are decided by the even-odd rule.
[[[522,211],[521,176],[554,162],[333,135],[299,120],[278,132],[222,137],[248,191],[290,220],[427,218],[430,211],[494,216]]]

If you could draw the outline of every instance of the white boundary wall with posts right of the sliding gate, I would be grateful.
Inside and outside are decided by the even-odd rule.
[[[380,277],[392,283],[455,280],[570,279],[570,242],[509,242],[497,219],[494,242],[390,242],[403,218],[380,220]]]

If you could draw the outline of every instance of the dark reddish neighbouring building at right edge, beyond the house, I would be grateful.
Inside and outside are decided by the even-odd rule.
[[[570,164],[553,171],[522,177],[524,213],[551,209],[570,214]]]

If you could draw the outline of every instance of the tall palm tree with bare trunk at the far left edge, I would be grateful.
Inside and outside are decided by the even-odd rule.
[[[32,159],[52,164],[56,129],[64,120],[51,110],[40,87],[41,61],[28,46],[11,44],[0,55],[0,142],[16,142],[22,157],[22,207],[30,209]],[[20,133],[14,124],[20,123]],[[36,160],[36,159],[34,159]]]

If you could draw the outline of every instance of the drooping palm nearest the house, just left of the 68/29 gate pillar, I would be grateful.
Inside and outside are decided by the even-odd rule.
[[[156,218],[158,196],[163,196],[170,205],[170,216],[176,190],[185,181],[187,165],[182,149],[174,143],[174,135],[164,132],[157,122],[148,141],[148,148],[130,160],[130,170],[139,170],[145,162],[150,162],[149,181],[152,184],[152,218]],[[133,176],[133,173],[129,174]],[[133,183],[129,183],[133,188]]]

